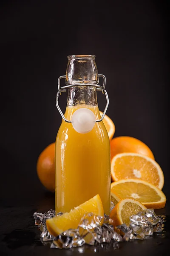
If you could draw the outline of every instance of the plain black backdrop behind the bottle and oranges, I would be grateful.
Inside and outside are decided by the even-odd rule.
[[[31,218],[34,210],[54,207],[54,195],[37,178],[36,163],[61,123],[55,96],[67,55],[96,55],[98,71],[106,76],[114,137],[136,137],[153,151],[165,176],[162,212],[170,215],[169,11],[168,1],[161,0],[1,1],[1,214],[7,218],[13,211],[8,228],[1,227],[3,239],[14,221],[22,229],[14,218],[19,212]],[[103,110],[100,93],[98,102]],[[66,94],[59,103],[64,111]],[[2,248],[10,253],[4,241]]]

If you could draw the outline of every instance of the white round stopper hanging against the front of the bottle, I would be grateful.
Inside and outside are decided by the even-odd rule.
[[[79,108],[73,113],[71,122],[75,131],[85,134],[94,128],[96,117],[90,109]]]

